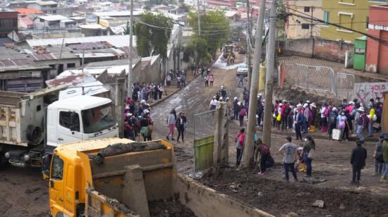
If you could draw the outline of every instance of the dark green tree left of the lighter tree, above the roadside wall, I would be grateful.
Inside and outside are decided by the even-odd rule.
[[[140,16],[140,22],[135,25],[138,55],[145,57],[159,54],[165,61],[172,26],[172,20],[162,13],[157,15],[150,12],[143,13]]]

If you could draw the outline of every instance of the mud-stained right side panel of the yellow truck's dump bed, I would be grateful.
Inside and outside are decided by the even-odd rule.
[[[238,216],[256,217],[272,216],[269,213],[255,209],[232,199],[225,194],[200,185],[190,178],[177,174],[174,192],[179,195],[182,204],[188,206],[196,216]]]

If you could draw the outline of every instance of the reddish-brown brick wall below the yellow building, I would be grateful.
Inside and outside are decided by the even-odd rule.
[[[353,50],[353,44],[326,39],[289,39],[281,43],[284,54],[322,58],[328,61],[345,61],[346,51]]]

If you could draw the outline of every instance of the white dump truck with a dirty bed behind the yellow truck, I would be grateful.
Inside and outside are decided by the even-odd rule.
[[[61,144],[118,136],[111,99],[58,100],[59,90],[0,92],[0,163],[42,167]]]

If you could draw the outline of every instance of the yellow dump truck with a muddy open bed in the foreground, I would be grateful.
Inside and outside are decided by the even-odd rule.
[[[193,216],[271,216],[176,173],[174,149],[156,140],[63,144],[49,171],[51,216],[150,216],[149,202],[180,202]]]

